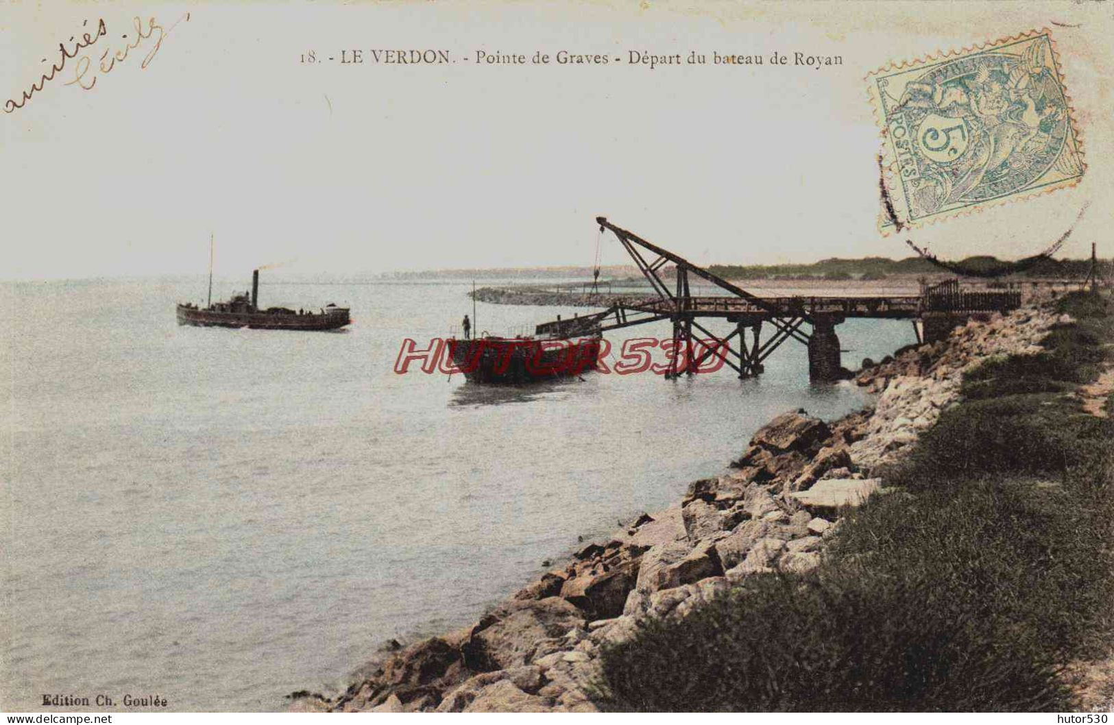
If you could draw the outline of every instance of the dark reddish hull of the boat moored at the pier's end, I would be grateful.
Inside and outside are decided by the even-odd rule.
[[[600,337],[521,340],[481,337],[450,340],[456,369],[478,383],[529,383],[595,370]]]

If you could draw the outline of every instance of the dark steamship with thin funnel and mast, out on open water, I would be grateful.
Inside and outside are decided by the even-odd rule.
[[[212,283],[211,283],[212,284]],[[212,288],[212,287],[211,287]],[[195,327],[251,327],[253,330],[338,330],[352,322],[348,307],[330,303],[320,312],[286,307],[260,308],[260,271],[252,273],[252,291],[207,307],[178,303],[179,325]]]

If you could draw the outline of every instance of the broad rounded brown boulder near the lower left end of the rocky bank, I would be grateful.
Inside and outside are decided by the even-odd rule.
[[[564,637],[586,624],[584,614],[559,597],[512,600],[477,625],[466,660],[477,672],[527,665],[539,640]]]

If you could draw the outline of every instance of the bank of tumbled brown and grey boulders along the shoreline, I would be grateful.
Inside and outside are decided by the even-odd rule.
[[[990,356],[1038,352],[1057,322],[1069,319],[996,315],[866,364],[856,381],[878,393],[874,408],[831,423],[804,411],[779,415],[730,472],[692,482],[677,506],[585,546],[476,624],[398,646],[335,698],[292,695],[293,708],[594,711],[600,646],[629,638],[648,617],[684,617],[746,577],[818,566],[840,510],[879,489],[871,476],[956,401],[964,372]]]

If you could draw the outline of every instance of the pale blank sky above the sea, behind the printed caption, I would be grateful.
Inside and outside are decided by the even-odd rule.
[[[148,35],[149,18],[178,21],[146,68],[155,36],[136,36],[135,17]],[[8,1],[0,98],[18,98],[59,42],[99,20],[106,35],[77,58],[136,49],[107,74],[94,58],[88,90],[70,60],[0,115],[0,278],[204,274],[211,235],[218,275],[588,265],[599,215],[700,264],[908,256],[903,235],[877,227],[880,136],[864,76],[1043,27],[1083,137],[1082,183],[912,239],[945,258],[1017,258],[1088,204],[1064,254],[1084,256],[1092,241],[1111,254],[1103,3]],[[377,48],[455,62],[377,65]],[[352,49],[363,63],[325,61]],[[317,62],[302,62],[311,50]],[[610,62],[476,62],[477,51],[560,50]],[[696,51],[707,65],[651,70],[631,51]],[[794,66],[797,51],[841,65]],[[714,66],[713,52],[766,63]],[[790,63],[770,66],[773,52]],[[627,262],[613,237],[602,262]]]

